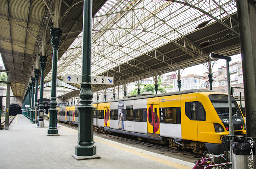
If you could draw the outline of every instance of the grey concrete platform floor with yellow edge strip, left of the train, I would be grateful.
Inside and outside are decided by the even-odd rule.
[[[57,125],[60,136],[46,136],[18,114],[9,130],[0,130],[0,169],[192,169],[193,163],[94,136],[100,159],[72,157],[78,131]]]

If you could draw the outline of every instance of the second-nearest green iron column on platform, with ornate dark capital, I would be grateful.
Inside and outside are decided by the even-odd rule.
[[[57,83],[57,60],[58,60],[58,49],[60,47],[60,37],[62,35],[62,29],[60,28],[51,28],[50,33],[52,35],[51,44],[52,44],[52,93],[49,109],[49,129],[47,136],[58,136],[57,129],[57,113],[58,109],[56,102],[56,83]]]

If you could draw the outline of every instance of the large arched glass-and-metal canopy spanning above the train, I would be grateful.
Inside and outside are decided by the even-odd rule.
[[[234,0],[107,0],[92,18],[92,76],[114,77],[118,86],[207,63],[211,52],[232,56],[240,53],[238,32]],[[81,31],[70,44],[59,50],[61,81],[82,74]],[[45,73],[46,83],[52,71]]]

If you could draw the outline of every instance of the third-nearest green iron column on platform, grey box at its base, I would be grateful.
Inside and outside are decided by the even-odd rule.
[[[41,81],[40,81],[40,101],[38,110],[38,127],[44,127],[44,70],[46,67],[46,56],[39,56],[40,68],[41,68]]]

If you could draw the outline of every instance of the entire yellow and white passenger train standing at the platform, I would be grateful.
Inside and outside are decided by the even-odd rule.
[[[212,90],[128,96],[92,105],[96,107],[94,130],[128,134],[195,153],[207,149],[219,154],[223,147],[220,135],[229,134],[228,95]],[[78,106],[59,107],[58,120],[78,124]],[[234,134],[246,134],[244,116],[233,97],[232,114]]]

